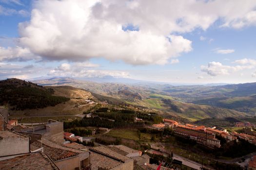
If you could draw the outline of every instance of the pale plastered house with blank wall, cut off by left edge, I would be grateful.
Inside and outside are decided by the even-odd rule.
[[[29,137],[16,132],[0,131],[0,160],[30,153]]]

